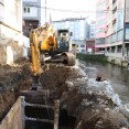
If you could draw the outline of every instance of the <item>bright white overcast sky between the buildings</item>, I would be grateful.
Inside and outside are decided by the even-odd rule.
[[[45,0],[42,1],[45,3]],[[43,7],[45,7],[44,3],[42,3]],[[66,18],[87,17],[88,20],[92,21],[95,20],[96,15],[96,0],[46,0],[46,7],[49,8],[47,21],[50,20],[50,13],[52,17],[52,21],[63,20]]]

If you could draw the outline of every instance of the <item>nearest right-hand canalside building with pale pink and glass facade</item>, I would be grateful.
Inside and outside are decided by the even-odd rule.
[[[106,0],[106,2],[103,1],[101,4],[105,3],[106,31],[104,46],[109,61],[120,65],[121,62],[129,60],[129,1]],[[100,22],[103,22],[103,20],[100,20]],[[96,33],[96,39],[97,35],[98,32]],[[98,46],[97,42],[96,46]]]

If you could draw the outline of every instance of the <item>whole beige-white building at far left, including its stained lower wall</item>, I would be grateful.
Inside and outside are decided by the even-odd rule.
[[[0,0],[0,64],[23,56],[22,0]]]

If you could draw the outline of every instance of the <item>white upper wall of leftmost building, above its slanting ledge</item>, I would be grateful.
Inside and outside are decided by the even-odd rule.
[[[22,31],[22,0],[4,0],[0,3],[0,24]]]

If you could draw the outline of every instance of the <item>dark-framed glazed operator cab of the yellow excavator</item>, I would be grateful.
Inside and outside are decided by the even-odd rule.
[[[68,30],[57,30],[57,53],[69,52],[71,34]]]

